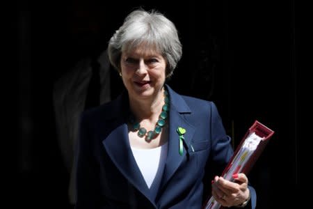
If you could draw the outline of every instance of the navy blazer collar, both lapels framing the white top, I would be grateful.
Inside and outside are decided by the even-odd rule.
[[[169,136],[168,136],[168,156],[166,159],[166,165],[163,171],[161,185],[159,192],[168,183],[168,180],[174,175],[179,165],[186,158],[190,141],[195,132],[195,128],[186,121],[184,114],[191,114],[191,109],[188,107],[181,95],[172,91],[172,89],[166,85],[170,97],[170,116],[169,116]],[[127,102],[127,93],[123,93],[113,104],[113,109],[106,118],[110,123],[106,121],[106,129],[111,130],[109,136],[102,140],[102,144],[106,149],[109,157],[119,169],[119,171],[134,185],[139,191],[141,191],[147,199],[149,199],[154,206],[154,199],[150,196],[150,190],[148,189],[145,180],[141,174],[140,169],[132,154],[128,130],[127,130],[127,116],[129,115],[129,105]],[[125,109],[127,111],[125,111]],[[184,127],[186,133],[184,134],[184,152],[179,155],[179,135],[177,134],[177,128]]]

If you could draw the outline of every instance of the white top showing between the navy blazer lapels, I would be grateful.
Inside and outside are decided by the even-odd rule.
[[[158,172],[166,163],[168,143],[152,149],[138,149],[131,147],[137,165],[145,178],[145,183],[150,188],[154,179],[162,175]],[[157,176],[158,175],[158,176]]]

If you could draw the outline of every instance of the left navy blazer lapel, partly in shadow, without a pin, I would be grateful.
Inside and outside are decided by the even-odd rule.
[[[129,180],[129,183],[134,185],[147,199],[154,203],[150,197],[150,190],[130,148],[127,117],[122,114],[122,112],[125,112],[125,109],[119,108],[123,106],[122,103],[122,100],[119,100],[116,111],[111,112],[111,115],[114,115],[111,118],[111,123],[106,123],[106,130],[110,130],[110,134],[102,140],[102,144],[109,157],[111,157],[112,162],[122,175]]]

